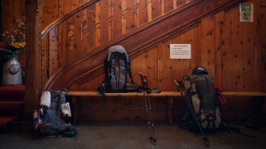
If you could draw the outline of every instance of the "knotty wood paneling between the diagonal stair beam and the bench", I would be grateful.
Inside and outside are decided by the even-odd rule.
[[[259,3],[249,2],[254,6],[252,23],[240,23],[239,6],[235,6],[206,16],[181,35],[161,41],[134,57],[132,72],[136,82],[139,83],[138,72],[146,72],[153,86],[174,91],[173,79],[191,75],[193,67],[203,65],[225,91],[262,91]],[[169,45],[173,43],[191,44],[191,60],[171,60]],[[95,84],[84,82],[80,89],[95,90],[100,80],[92,81]]]

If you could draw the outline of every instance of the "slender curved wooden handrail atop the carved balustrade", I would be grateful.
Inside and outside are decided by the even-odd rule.
[[[50,25],[46,26],[46,28],[44,28],[43,31],[41,32],[41,39],[43,39],[47,33],[52,31],[53,28],[60,25],[60,23],[62,23],[63,21],[67,20],[68,18],[73,16],[75,13],[78,13],[79,11],[83,11],[83,9],[86,9],[87,7],[91,6],[92,4],[95,4],[98,1],[100,1],[100,0],[88,1],[85,4],[79,6],[77,9],[75,9],[75,10],[71,11],[70,13],[68,13],[67,15],[63,16],[62,18],[58,18],[57,20],[53,21],[53,23],[50,23]]]

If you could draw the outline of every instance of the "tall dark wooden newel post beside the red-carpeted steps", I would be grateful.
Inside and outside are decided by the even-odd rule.
[[[38,105],[41,89],[41,0],[26,0],[26,93],[24,115]]]

